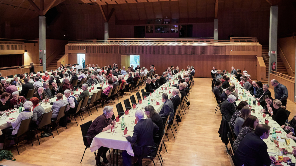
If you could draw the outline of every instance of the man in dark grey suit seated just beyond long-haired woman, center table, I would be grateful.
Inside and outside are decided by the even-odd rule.
[[[171,100],[168,99],[168,94],[162,93],[162,102],[163,106],[159,112],[161,117],[170,116],[169,122],[174,118],[174,104]]]

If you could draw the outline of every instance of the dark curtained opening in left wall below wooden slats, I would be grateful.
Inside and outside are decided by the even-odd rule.
[[[22,66],[23,64],[23,54],[0,55],[1,67]]]

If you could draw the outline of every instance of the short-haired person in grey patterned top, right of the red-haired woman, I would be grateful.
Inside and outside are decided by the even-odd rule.
[[[67,118],[67,114],[68,114],[67,111],[70,109],[69,103],[68,103],[68,101],[63,100],[63,94],[61,94],[61,93],[58,93],[56,95],[56,97],[57,97],[58,101],[54,101],[54,104],[51,107],[51,109],[53,110],[51,119],[55,121],[58,117],[59,112],[60,112],[60,108],[62,106],[66,106],[65,116],[60,118],[60,123],[59,123],[59,126],[66,127],[66,125],[67,125],[66,118]],[[64,110],[61,110],[61,111],[64,111]]]

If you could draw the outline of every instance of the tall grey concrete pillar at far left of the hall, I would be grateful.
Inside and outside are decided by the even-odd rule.
[[[46,23],[45,16],[39,16],[39,58],[42,58],[43,70],[46,70]],[[40,51],[41,50],[41,51]]]

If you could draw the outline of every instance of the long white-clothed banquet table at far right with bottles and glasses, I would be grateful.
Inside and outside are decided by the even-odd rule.
[[[247,92],[246,97],[245,98],[243,97],[243,90],[242,90],[243,87],[238,84],[235,77],[231,76],[231,83],[235,84],[236,88],[238,88],[239,97],[238,97],[238,101],[236,101],[236,105],[238,105],[241,101],[247,101],[248,102],[248,100],[251,99],[251,103],[252,103],[252,108],[251,109],[255,110],[255,112],[254,113],[252,112],[251,115],[257,117],[259,119],[259,123],[264,124],[265,123],[265,118],[262,117],[262,112],[260,112],[263,109],[263,107],[258,106],[257,101],[256,101],[256,104],[255,104],[255,107],[253,106],[253,101],[255,99],[250,93]],[[274,150],[275,149],[275,144],[273,142],[271,142],[271,140],[270,140],[271,136],[272,136],[271,134],[273,132],[273,127],[276,128],[276,132],[282,132],[282,134],[284,134],[285,136],[286,136],[287,133],[285,132],[284,129],[282,129],[282,127],[276,121],[274,121],[272,119],[272,117],[269,117],[268,115],[266,115],[266,116],[267,116],[267,120],[269,121],[268,125],[270,126],[270,135],[269,135],[268,139],[264,140],[264,142],[266,143],[266,145],[268,147],[268,149],[267,149],[268,154],[270,156],[274,156],[276,158],[276,160],[278,160],[278,153],[276,153],[276,151]],[[287,145],[286,145],[285,140],[281,138],[281,133],[276,133],[276,134],[279,136],[278,137],[279,142],[280,142],[279,148],[286,148]],[[288,152],[292,152],[292,149],[293,149],[292,146],[296,147],[296,143],[295,143],[295,141],[292,141],[292,139],[291,139],[291,142],[290,142],[290,144],[288,146],[288,149],[287,149]],[[276,150],[278,150],[279,148],[277,148]],[[292,155],[292,163],[295,163],[295,162],[296,162],[295,157],[293,157],[293,155]],[[281,162],[281,164],[284,165],[284,166],[288,165],[287,163],[284,163],[284,162]],[[272,163],[272,165],[275,165],[275,164]]]

